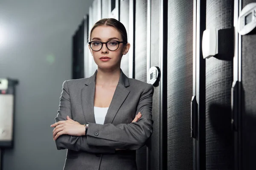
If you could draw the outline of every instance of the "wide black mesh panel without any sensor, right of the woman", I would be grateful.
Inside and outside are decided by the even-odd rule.
[[[169,1],[168,16],[168,170],[192,170],[193,1]]]

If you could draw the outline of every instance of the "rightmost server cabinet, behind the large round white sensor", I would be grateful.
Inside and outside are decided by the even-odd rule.
[[[235,55],[233,59],[233,86],[232,86],[232,127],[234,132],[235,170],[255,169],[256,159],[256,70],[255,54],[256,40],[255,29],[249,34],[238,33],[241,24],[253,22],[256,8],[250,8],[247,15],[249,20],[238,23],[242,17],[244,7],[255,0],[234,1],[234,26],[235,26]],[[251,20],[250,17],[251,16]],[[255,20],[255,18],[254,18]]]

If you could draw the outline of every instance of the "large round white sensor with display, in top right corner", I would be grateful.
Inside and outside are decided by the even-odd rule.
[[[237,22],[239,34],[245,35],[256,27],[256,3],[249,3],[242,9]]]

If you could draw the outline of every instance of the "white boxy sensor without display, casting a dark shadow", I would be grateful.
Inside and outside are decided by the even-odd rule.
[[[204,30],[202,51],[204,59],[218,54],[218,30],[216,28]]]

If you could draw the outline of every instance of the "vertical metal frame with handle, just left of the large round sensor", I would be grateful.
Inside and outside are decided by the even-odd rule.
[[[232,129],[234,132],[234,168],[242,170],[242,78],[241,78],[241,35],[238,33],[237,20],[241,12],[241,0],[234,1],[234,28],[235,45],[233,58],[233,85],[231,89],[231,110],[232,110]]]

